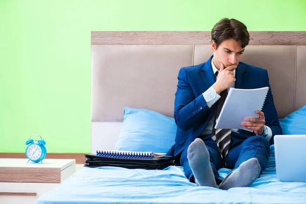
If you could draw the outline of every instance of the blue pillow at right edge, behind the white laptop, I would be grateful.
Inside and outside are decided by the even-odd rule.
[[[306,106],[279,119],[283,135],[305,135],[306,134]]]

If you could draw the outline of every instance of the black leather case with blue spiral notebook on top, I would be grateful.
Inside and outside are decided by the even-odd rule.
[[[166,154],[141,151],[97,150],[85,154],[86,167],[115,166],[129,169],[164,169],[173,165],[174,157]]]

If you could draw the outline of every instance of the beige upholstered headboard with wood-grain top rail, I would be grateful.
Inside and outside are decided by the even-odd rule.
[[[268,70],[279,118],[306,104],[306,32],[250,32],[241,61]],[[112,149],[123,108],[173,117],[177,73],[212,55],[210,32],[92,32],[92,152]]]

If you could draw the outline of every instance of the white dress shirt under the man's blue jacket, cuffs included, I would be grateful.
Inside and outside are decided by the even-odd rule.
[[[213,72],[214,72],[214,74],[216,74],[216,72],[219,72],[219,70],[215,66],[215,64],[213,62],[213,59],[212,59],[211,63],[212,63],[212,67],[213,67]],[[236,76],[236,69],[234,69],[234,77],[235,76]],[[230,87],[227,88],[227,91],[229,91],[231,88],[235,88],[235,82],[233,84],[231,84]],[[216,90],[214,89],[213,86],[211,86],[204,93],[202,93],[202,95],[203,95],[204,99],[206,100],[206,104],[209,108],[211,108],[217,102],[217,100],[219,100],[219,98],[221,98],[221,96],[219,94],[217,94],[217,92],[216,92]],[[207,123],[206,127],[203,129],[201,135],[207,135],[207,134],[212,133],[215,117],[216,117],[216,114],[213,114],[211,119]],[[272,137],[272,130],[268,126],[267,126],[267,129],[268,129],[268,135],[266,136],[266,140],[269,142],[269,140]],[[238,129],[232,129],[232,132],[239,133]]]

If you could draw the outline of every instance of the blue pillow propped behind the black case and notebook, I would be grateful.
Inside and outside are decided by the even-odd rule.
[[[115,150],[166,153],[175,143],[174,118],[161,113],[125,107]]]

